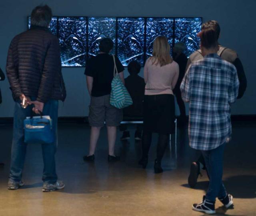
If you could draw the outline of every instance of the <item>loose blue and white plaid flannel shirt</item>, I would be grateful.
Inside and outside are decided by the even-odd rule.
[[[217,54],[192,63],[182,80],[182,99],[189,102],[190,147],[212,150],[231,138],[230,105],[236,101],[236,68]]]

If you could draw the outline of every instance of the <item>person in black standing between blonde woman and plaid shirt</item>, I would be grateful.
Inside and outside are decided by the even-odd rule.
[[[178,121],[179,126],[184,126],[186,122],[186,108],[184,101],[182,100],[181,97],[181,92],[180,92],[180,84],[182,82],[182,79],[185,75],[185,70],[186,70],[186,65],[188,58],[187,56],[183,53],[184,50],[186,50],[186,45],[182,42],[177,42],[174,47],[173,47],[173,60],[178,63],[180,71],[179,71],[179,78],[177,81],[177,84],[173,90],[173,93],[176,97],[179,109],[180,109],[180,118]]]

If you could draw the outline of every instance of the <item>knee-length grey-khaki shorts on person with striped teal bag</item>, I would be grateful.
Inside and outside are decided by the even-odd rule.
[[[92,127],[119,126],[123,119],[122,109],[110,105],[110,95],[91,97],[89,124]]]

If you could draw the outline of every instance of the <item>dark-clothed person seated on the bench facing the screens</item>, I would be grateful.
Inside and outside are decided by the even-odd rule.
[[[145,82],[144,79],[138,75],[140,68],[141,66],[137,61],[132,61],[128,64],[128,72],[130,76],[125,79],[125,87],[132,97],[133,104],[124,108],[124,119],[142,119]],[[127,130],[126,124],[121,124],[120,130],[123,131],[121,140],[130,139],[130,132]],[[141,140],[141,134],[142,124],[137,124],[135,140]]]

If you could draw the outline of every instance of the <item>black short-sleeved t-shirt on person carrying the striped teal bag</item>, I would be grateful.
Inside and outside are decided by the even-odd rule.
[[[124,71],[120,60],[116,58],[116,68],[118,73]],[[92,96],[100,97],[111,92],[111,82],[114,78],[114,60],[112,55],[102,53],[90,58],[86,64],[86,76],[93,77]]]

